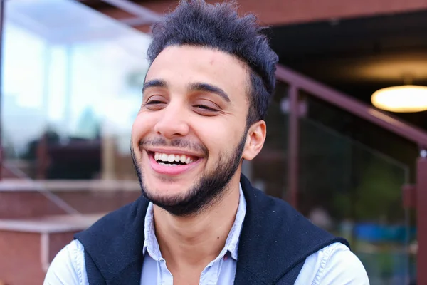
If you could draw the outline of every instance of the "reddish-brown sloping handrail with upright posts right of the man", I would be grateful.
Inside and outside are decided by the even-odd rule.
[[[371,106],[351,98],[349,95],[334,90],[307,76],[292,71],[285,66],[277,66],[276,78],[288,83],[290,100],[289,117],[289,160],[288,160],[288,190],[290,203],[297,207],[298,204],[298,155],[300,122],[299,91],[303,90],[309,95],[324,100],[348,113],[373,123],[391,133],[399,135],[406,140],[416,143],[420,149],[420,157],[416,163],[416,185],[413,187],[413,196],[416,197],[414,207],[417,211],[417,284],[427,284],[427,133],[420,128],[405,123],[394,116],[383,113]],[[402,203],[403,204],[403,203]]]

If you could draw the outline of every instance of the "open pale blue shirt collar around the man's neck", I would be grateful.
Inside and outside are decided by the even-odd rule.
[[[225,256],[227,252],[230,253],[231,258],[237,260],[238,252],[238,240],[241,234],[241,229],[243,226],[243,220],[246,215],[246,199],[243,195],[242,186],[239,184],[239,200],[238,208],[236,213],[236,218],[234,219],[233,227],[231,227],[228,237],[226,239],[226,245],[221,250],[220,257]],[[148,252],[149,256],[152,259],[159,261],[162,259],[162,253],[159,249],[159,243],[157,242],[156,234],[154,231],[154,212],[153,204],[149,203],[147,208],[147,213],[145,214],[144,222],[144,247],[142,248],[142,253],[145,255]]]

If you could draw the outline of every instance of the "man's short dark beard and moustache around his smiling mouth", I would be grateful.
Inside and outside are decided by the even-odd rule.
[[[149,202],[152,202],[170,214],[178,217],[196,215],[204,209],[209,208],[211,205],[215,204],[215,202],[221,200],[221,197],[226,192],[228,183],[236,174],[238,166],[242,160],[242,153],[243,148],[245,147],[247,133],[248,130],[243,133],[241,141],[236,147],[234,147],[231,154],[227,155],[223,152],[220,153],[216,170],[211,173],[205,173],[189,190],[181,195],[175,195],[173,197],[161,197],[160,195],[154,195],[152,190],[150,191],[147,189],[147,185],[144,183],[143,171],[139,166],[140,164],[137,162],[134,149],[131,147],[132,161],[135,165],[142,195],[144,195]],[[166,140],[159,138],[150,141],[143,140],[140,145],[166,146],[167,142]],[[196,145],[184,140],[172,140],[171,145],[181,147],[190,146],[197,150],[204,150],[206,158],[209,155],[206,147],[203,145]]]

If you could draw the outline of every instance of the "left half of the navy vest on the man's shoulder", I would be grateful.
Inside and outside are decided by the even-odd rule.
[[[95,278],[94,283],[99,278],[119,276],[142,260],[147,207],[148,201],[141,196],[75,234],[75,239],[83,244],[86,269],[88,276]]]

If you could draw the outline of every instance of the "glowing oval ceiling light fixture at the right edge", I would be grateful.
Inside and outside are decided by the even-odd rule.
[[[372,104],[381,110],[414,113],[427,110],[427,86],[404,85],[383,88],[372,94]]]

